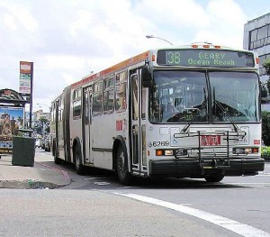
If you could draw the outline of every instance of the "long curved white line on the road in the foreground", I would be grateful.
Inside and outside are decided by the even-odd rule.
[[[259,230],[253,226],[247,225],[245,223],[239,223],[237,221],[220,216],[218,214],[207,213],[199,209],[195,209],[193,207],[189,207],[185,205],[177,205],[177,204],[159,200],[157,198],[148,197],[148,196],[140,196],[136,194],[121,194],[121,193],[114,193],[114,194],[119,195],[119,196],[130,197],[132,199],[136,199],[141,202],[152,204],[152,205],[163,206],[163,207],[175,210],[183,214],[189,214],[194,217],[200,218],[204,221],[217,224],[231,232],[236,232],[239,235],[244,236],[244,237],[270,237],[270,233]]]

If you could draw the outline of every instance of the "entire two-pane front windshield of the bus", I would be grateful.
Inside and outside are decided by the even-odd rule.
[[[258,122],[258,93],[256,73],[157,70],[149,94],[149,120]]]

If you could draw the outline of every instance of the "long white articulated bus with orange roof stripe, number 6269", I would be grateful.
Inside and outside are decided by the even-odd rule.
[[[148,50],[84,77],[52,102],[56,163],[140,178],[257,175],[256,52],[213,44]]]

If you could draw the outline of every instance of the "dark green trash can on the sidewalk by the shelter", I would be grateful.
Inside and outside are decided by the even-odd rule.
[[[35,139],[32,137],[14,136],[13,158],[14,166],[30,166],[34,165],[35,157]]]

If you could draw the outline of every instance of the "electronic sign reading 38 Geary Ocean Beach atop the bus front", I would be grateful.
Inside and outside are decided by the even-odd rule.
[[[157,64],[184,67],[253,68],[250,52],[232,50],[158,50]]]

